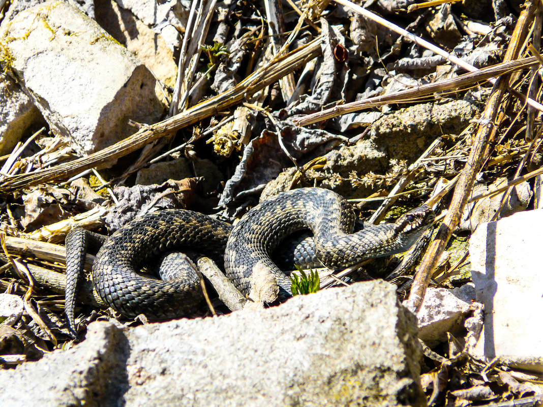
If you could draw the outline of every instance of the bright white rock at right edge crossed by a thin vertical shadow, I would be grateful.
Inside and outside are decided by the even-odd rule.
[[[543,372],[543,211],[483,223],[470,238],[471,276],[484,326],[479,357]]]

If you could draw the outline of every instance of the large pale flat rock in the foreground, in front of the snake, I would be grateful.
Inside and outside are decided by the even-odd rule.
[[[2,399],[14,407],[36,399],[40,406],[425,405],[415,317],[382,281],[122,333],[94,322],[74,349],[0,371]]]

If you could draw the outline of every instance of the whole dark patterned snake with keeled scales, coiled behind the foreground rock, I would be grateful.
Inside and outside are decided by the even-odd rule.
[[[252,271],[262,268],[277,278],[279,296],[286,298],[291,295],[291,282],[271,261],[270,253],[289,234],[311,230],[320,262],[337,270],[408,250],[434,219],[432,209],[422,205],[394,223],[352,233],[355,213],[342,196],[321,188],[300,188],[261,202],[233,227],[198,212],[166,209],[128,222],[105,242],[100,235],[75,229],[66,237],[68,323],[73,329],[77,281],[91,247],[101,245],[92,281],[110,307],[129,317],[166,319],[191,314],[201,290],[198,278],[162,281],[138,274],[142,265],[163,252],[198,250],[219,266],[224,264],[226,275],[243,294],[251,290]]]

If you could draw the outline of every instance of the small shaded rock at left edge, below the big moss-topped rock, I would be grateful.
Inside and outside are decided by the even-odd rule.
[[[42,121],[34,102],[9,77],[0,80],[0,155],[9,154],[27,129]]]

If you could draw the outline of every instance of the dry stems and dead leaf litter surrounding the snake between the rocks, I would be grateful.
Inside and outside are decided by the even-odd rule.
[[[543,7],[509,3],[192,2],[165,119],[84,157],[42,128],[2,157],[0,289],[26,312],[2,328],[12,346],[0,360],[70,341],[58,245],[70,228],[113,230],[148,207],[233,221],[263,197],[320,186],[379,222],[430,201],[442,222],[406,268],[421,259],[414,278],[395,271],[399,260],[353,276],[389,276],[412,309],[429,284],[468,281],[465,245],[444,252],[451,239],[541,205]],[[136,185],[145,170],[155,185]],[[82,326],[107,315],[85,284]],[[435,350],[446,357],[423,365],[431,404],[538,402],[527,384],[540,378],[473,360],[455,338]]]

